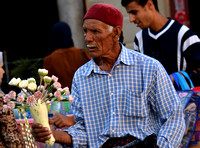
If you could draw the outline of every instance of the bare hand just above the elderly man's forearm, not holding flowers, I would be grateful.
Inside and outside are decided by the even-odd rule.
[[[74,120],[74,116],[65,116],[65,115],[57,114],[53,116],[53,118],[49,119],[49,123],[54,124],[58,128],[62,128],[65,126],[70,127],[74,125],[76,122]]]

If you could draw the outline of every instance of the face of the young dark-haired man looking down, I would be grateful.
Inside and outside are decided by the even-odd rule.
[[[126,11],[129,14],[129,21],[135,23],[137,27],[145,29],[150,26],[151,23],[151,11],[147,4],[142,7],[137,2],[133,1],[126,7]]]

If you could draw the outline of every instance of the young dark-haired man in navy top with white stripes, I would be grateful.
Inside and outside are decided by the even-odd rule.
[[[187,26],[163,16],[157,0],[121,0],[121,4],[130,22],[141,28],[135,35],[134,49],[159,60],[168,74],[187,71],[199,86],[199,37]]]

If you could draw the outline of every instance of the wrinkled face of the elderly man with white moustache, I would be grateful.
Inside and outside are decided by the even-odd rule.
[[[91,57],[108,55],[113,47],[113,27],[96,19],[83,23],[84,39]]]

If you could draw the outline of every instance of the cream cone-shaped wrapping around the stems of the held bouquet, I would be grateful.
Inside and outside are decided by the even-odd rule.
[[[45,102],[42,103],[39,99],[37,105],[30,107],[30,112],[35,123],[41,123],[44,127],[51,130],[49,126],[48,109]],[[52,134],[51,138],[45,141],[45,143],[49,146],[52,146],[55,143],[55,139]]]

